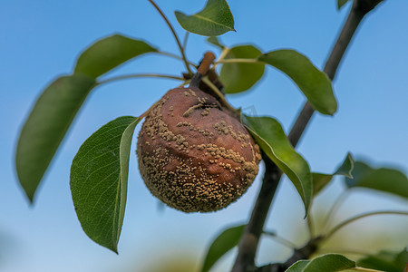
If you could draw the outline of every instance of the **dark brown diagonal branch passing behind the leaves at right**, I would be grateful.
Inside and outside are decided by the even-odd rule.
[[[339,34],[335,45],[329,54],[325,63],[324,72],[331,79],[335,79],[335,73],[340,64],[348,44],[350,44],[355,30],[364,18],[364,15],[374,9],[376,5],[383,0],[354,0],[350,13],[345,21],[341,33]],[[295,124],[288,134],[288,139],[294,147],[296,147],[300,137],[306,130],[306,126],[313,116],[315,110],[310,103],[306,102],[302,111],[299,113]],[[255,257],[257,254],[257,246],[259,238],[263,232],[264,224],[267,219],[267,213],[270,209],[272,200],[274,199],[278,182],[282,176],[282,172],[278,170],[277,166],[263,155],[265,163],[264,179],[259,190],[256,204],[252,210],[248,225],[238,244],[238,256],[232,268],[232,272],[279,272],[285,271],[287,267],[302,258],[310,257],[316,252],[316,242],[318,240],[312,239],[306,246],[297,248],[284,264],[270,264],[265,267],[257,268],[255,265]]]

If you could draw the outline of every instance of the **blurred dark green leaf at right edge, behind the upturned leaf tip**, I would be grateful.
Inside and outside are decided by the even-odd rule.
[[[353,180],[345,178],[348,188],[363,187],[408,198],[408,178],[399,170],[373,169],[362,161],[355,161]]]

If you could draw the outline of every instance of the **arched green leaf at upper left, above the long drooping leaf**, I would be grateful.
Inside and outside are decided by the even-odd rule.
[[[157,51],[143,41],[114,34],[86,49],[78,58],[74,73],[83,73],[97,78],[135,56]]]

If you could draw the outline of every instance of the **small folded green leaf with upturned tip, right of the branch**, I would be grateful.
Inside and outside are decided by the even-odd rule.
[[[342,165],[335,170],[333,174],[312,173],[313,180],[313,195],[316,196],[325,186],[333,179],[335,175],[342,175],[347,178],[353,179],[352,171],[354,168],[355,160],[350,153],[347,154]]]

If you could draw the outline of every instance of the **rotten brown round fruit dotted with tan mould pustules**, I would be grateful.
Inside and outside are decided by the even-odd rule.
[[[196,87],[172,89],[152,107],[137,155],[151,193],[184,212],[227,207],[251,185],[261,159],[245,127]]]

